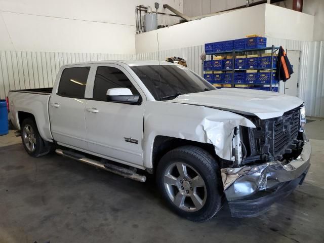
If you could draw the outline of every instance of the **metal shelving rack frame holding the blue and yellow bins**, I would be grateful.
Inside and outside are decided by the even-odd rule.
[[[250,52],[257,52],[258,54],[260,52],[264,52],[267,50],[271,50],[271,64],[270,64],[270,68],[239,68],[239,69],[235,69],[235,54],[239,54],[239,55],[248,55],[248,53]],[[276,85],[278,85],[278,92],[279,92],[279,82],[277,84],[272,84],[272,72],[273,70],[276,70],[276,68],[273,68],[273,54],[279,50],[279,47],[275,47],[275,46],[271,46],[271,47],[265,47],[265,48],[256,48],[256,49],[243,49],[243,50],[231,50],[231,51],[223,51],[223,52],[215,52],[212,54],[208,54],[210,56],[210,60],[213,60],[213,56],[217,56],[217,55],[224,55],[224,54],[230,54],[232,53],[232,69],[219,69],[219,70],[208,70],[208,72],[212,72],[214,74],[214,72],[218,72],[218,71],[232,71],[232,82],[231,82],[231,88],[234,88],[235,84],[234,83],[234,73],[236,71],[242,71],[242,70],[270,70],[270,83],[269,83],[269,91],[272,90],[272,87],[274,85],[274,87]],[[204,70],[204,72],[207,70]],[[214,83],[217,84],[217,83]],[[223,85],[224,83],[219,83],[221,85]],[[265,87],[265,85],[267,84],[245,84],[245,85],[251,85],[251,86],[263,86]],[[266,86],[267,87],[267,86]]]

